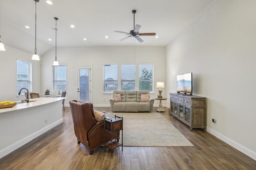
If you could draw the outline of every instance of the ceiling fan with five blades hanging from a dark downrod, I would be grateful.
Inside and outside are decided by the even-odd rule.
[[[139,29],[140,29],[140,25],[136,25],[135,26],[135,13],[136,13],[136,10],[132,10],[132,14],[133,14],[133,27],[134,29],[130,31],[130,33],[127,33],[127,32],[122,32],[122,31],[114,31],[116,33],[125,33],[126,36],[128,37],[125,37],[123,39],[120,39],[120,41],[124,41],[125,39],[128,39],[130,37],[135,37],[140,43],[143,42],[143,40],[138,36],[142,36],[142,35],[156,35],[156,33],[139,33]]]

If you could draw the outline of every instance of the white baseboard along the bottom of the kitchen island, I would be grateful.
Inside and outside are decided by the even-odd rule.
[[[63,118],[59,119],[58,121],[40,129],[39,131],[36,131],[35,133],[32,133],[31,135],[24,137],[23,139],[21,139],[20,141],[17,141],[16,143],[13,143],[12,145],[0,150],[0,158],[6,156],[7,154],[13,152],[14,150],[18,149],[19,147],[22,147],[23,145],[25,145],[26,143],[32,141],[33,139],[35,139],[36,137],[39,137],[40,135],[42,135],[43,133],[49,131],[50,129],[52,129],[53,127],[57,126],[58,124],[63,122]]]

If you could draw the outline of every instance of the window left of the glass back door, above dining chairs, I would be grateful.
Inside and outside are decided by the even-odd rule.
[[[52,66],[52,90],[60,90],[61,92],[66,91],[66,80],[67,80],[67,66],[66,64]]]

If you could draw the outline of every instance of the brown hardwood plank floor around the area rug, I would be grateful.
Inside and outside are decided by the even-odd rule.
[[[64,122],[0,159],[0,170],[255,170],[256,161],[210,133],[164,115],[195,147],[121,147],[89,151],[77,144],[69,107]],[[110,107],[94,107],[110,112]],[[154,108],[154,112],[156,112]]]

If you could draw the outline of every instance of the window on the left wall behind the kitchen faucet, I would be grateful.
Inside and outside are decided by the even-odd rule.
[[[17,60],[17,94],[21,88],[32,91],[32,64]]]

